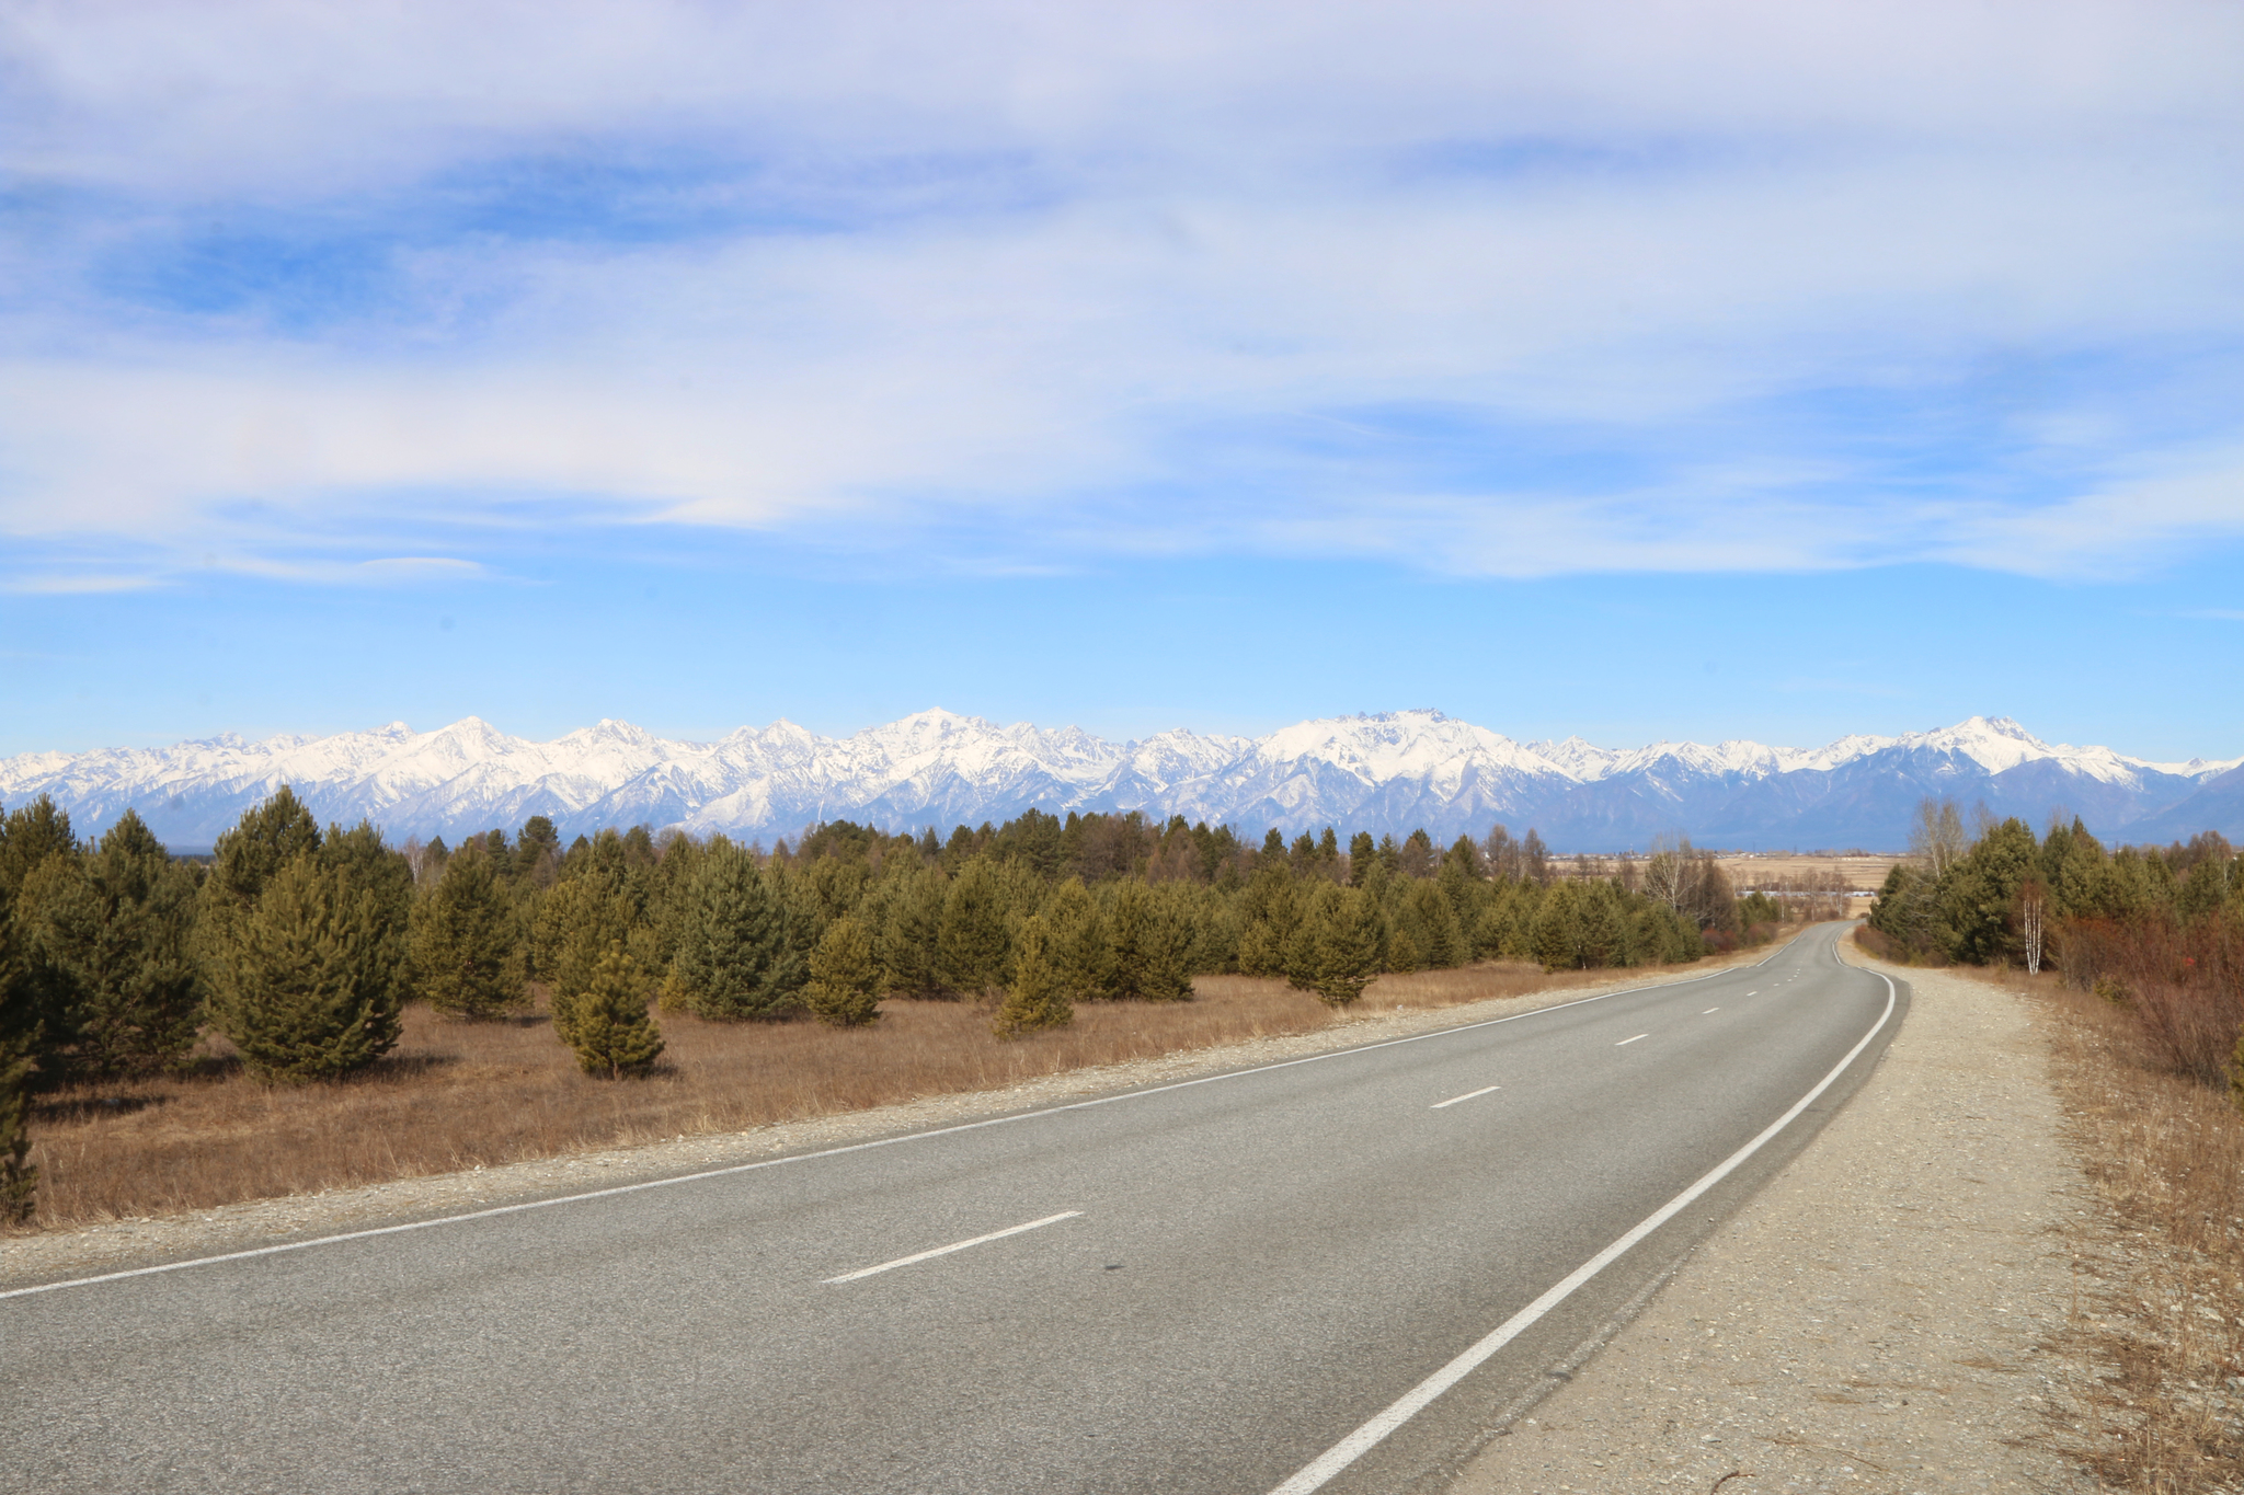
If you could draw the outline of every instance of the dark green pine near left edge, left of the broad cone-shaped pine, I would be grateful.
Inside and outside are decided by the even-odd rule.
[[[94,854],[47,856],[18,910],[47,1083],[148,1074],[195,1044],[195,879],[135,811]]]

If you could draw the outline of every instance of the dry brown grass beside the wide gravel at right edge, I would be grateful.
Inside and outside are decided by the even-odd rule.
[[[2058,1092],[2109,1206],[2073,1244],[2080,1367],[2062,1419],[2112,1488],[2235,1491],[2244,1479],[2244,1116],[2172,1074],[2139,1015],[2056,977],[1999,973],[2053,1018]],[[2078,1419],[2078,1421],[2076,1421]]]

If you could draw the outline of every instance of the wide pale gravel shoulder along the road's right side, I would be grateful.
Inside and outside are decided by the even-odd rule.
[[[1845,957],[1912,986],[1878,1069],[1454,1495],[2096,1488],[2049,1421],[2094,1208],[2049,1044],[1988,982]]]

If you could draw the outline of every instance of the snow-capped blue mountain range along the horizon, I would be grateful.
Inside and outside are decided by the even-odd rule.
[[[1438,711],[1299,722],[1268,737],[1169,731],[1104,742],[1079,728],[996,726],[922,711],[850,737],[792,722],[718,742],[671,742],[601,722],[527,742],[467,717],[433,733],[404,722],[332,737],[224,735],[168,749],[25,753],[0,760],[0,805],[38,793],[81,832],[132,807],[173,847],[209,847],[280,784],[325,820],[379,825],[393,841],[552,816],[563,836],[604,825],[682,825],[794,836],[817,820],[947,832],[1052,814],[1142,809],[1230,823],[1259,838],[1335,825],[1438,841],[1528,827],[1564,852],[1643,847],[1681,832],[1723,847],[1898,849],[1914,805],[1950,796],[2040,825],[2080,814],[2107,838],[2199,829],[2244,838],[2244,760],[2145,762],[2049,744],[2008,717],[1822,749],[1654,742],[1600,749],[1515,742]]]

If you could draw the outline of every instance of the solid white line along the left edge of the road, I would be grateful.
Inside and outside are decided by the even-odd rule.
[[[1454,1029],[1434,1029],[1432,1033],[1411,1033],[1409,1038],[1382,1038],[1376,1044],[1358,1044],[1353,1049],[1328,1049],[1324,1053],[1310,1053],[1306,1058],[1288,1058],[1277,1065],[1254,1065],[1252,1069],[1225,1069],[1223,1074],[1203,1074],[1196,1080],[1174,1080],[1169,1085],[1149,1085],[1147,1089],[1124,1089],[1120,1096],[1095,1096],[1091,1101],[1068,1101],[1066,1105],[1048,1105],[1039,1112],[1014,1112],[1012,1116],[990,1116],[985,1121],[960,1121],[949,1127],[931,1127],[927,1132],[900,1132],[895,1136],[875,1136],[868,1143],[844,1143],[842,1148],[819,1148],[817,1152],[794,1152],[790,1157],[767,1157],[756,1163],[727,1163],[725,1168],[702,1168],[700,1172],[680,1172],[669,1179],[642,1179],[640,1183],[615,1183],[610,1188],[588,1188],[581,1195],[557,1195],[552,1199],[525,1199],[523,1204],[494,1204],[487,1210],[467,1210],[462,1215],[438,1215],[435,1219],[413,1219],[402,1226],[373,1226],[368,1231],[341,1231],[337,1235],[314,1235],[305,1242],[280,1242],[278,1246],[254,1246],[251,1251],[222,1251],[220,1255],[197,1255],[184,1262],[164,1262],[162,1266],[132,1266],[128,1271],[103,1271],[92,1278],[63,1278],[61,1282],[38,1282],[34,1287],[13,1287],[0,1291],[0,1300],[7,1298],[31,1298],[36,1293],[58,1293],[65,1287],[94,1287],[96,1282],[123,1282],[126,1278],[155,1278],[168,1271],[186,1271],[191,1266],[218,1266],[220,1262],[247,1262],[260,1255],[283,1255],[289,1251],[310,1251],[314,1246],[339,1246],[343,1242],[364,1242],[377,1235],[404,1235],[408,1231],[435,1231],[438,1226],[460,1226],[469,1219],[496,1219],[498,1215],[523,1215],[527,1210],[550,1210],[557,1204],[583,1204],[588,1199],[613,1199],[617,1195],[637,1195],[649,1188],[671,1188],[673,1183],[700,1183],[705,1179],[727,1179],[736,1172],[758,1172],[763,1168],[785,1168],[790,1163],[812,1163],[821,1157],[842,1157],[846,1152],[871,1152],[873,1148],[898,1148],[902,1143],[929,1141],[934,1136],[956,1136],[958,1132],[978,1132],[983,1127],[1003,1127],[1014,1121],[1037,1121],[1039,1116],[1059,1116],[1061,1112],[1086,1112],[1095,1105],[1118,1105],[1122,1101],[1140,1101],[1144,1096],[1162,1096],[1171,1089],[1192,1089],[1194,1085],[1214,1085],[1218,1080],[1243,1080],[1250,1074],[1270,1074],[1272,1069],[1293,1069],[1295,1065],[1322,1065],[1328,1058],[1346,1058],[1351,1053],[1373,1053],[1378,1049],[1394,1049],[1398,1044],[1416,1044],[1427,1038],[1447,1038],[1452,1033],[1472,1033],[1474,1029],[1492,1029],[1503,1022],[1521,1022],[1526,1018],[1542,1018],[1544,1013],[1562,1013],[1569,1006],[1589,1006],[1591,1002],[1607,1002],[1609,997],[1627,997],[1638,991],[1665,991],[1667,986],[1694,986],[1699,982],[1714,982],[1726,975],[1737,975],[1739,971],[1755,971],[1766,966],[1793,944],[1804,939],[1804,935],[1793,935],[1775,950],[1753,962],[1750,966],[1730,966],[1728,971],[1708,971],[1705,975],[1687,975],[1681,982],[1661,982],[1658,986],[1620,986],[1616,991],[1600,991],[1593,997],[1578,997],[1573,1002],[1557,1002],[1553,1006],[1537,1006],[1526,1013],[1512,1013],[1510,1018],[1488,1018],[1486,1022],[1461,1022]]]

